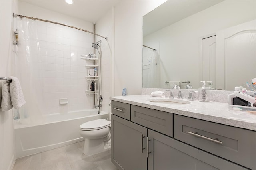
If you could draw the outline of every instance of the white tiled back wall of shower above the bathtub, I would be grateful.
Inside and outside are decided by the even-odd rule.
[[[93,35],[48,22],[38,23],[46,114],[92,109],[94,97],[86,95],[86,61],[80,55],[93,53]],[[68,98],[68,104],[60,105],[61,98]]]

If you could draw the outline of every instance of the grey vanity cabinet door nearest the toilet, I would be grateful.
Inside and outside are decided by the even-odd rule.
[[[146,170],[147,128],[112,115],[111,160],[119,170]]]

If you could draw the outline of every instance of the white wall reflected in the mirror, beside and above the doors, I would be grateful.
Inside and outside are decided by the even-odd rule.
[[[255,6],[255,1],[224,1],[145,36],[144,45],[160,52],[160,87],[167,88],[165,81],[190,81],[194,89],[200,87],[200,37],[255,19]]]

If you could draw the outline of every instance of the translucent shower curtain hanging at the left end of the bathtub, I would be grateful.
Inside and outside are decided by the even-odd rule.
[[[36,20],[14,18],[14,30],[18,29],[18,45],[14,45],[13,75],[18,77],[26,104],[14,110],[22,124],[43,123],[44,93],[42,63]]]

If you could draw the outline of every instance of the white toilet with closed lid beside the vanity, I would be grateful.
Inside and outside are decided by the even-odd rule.
[[[93,155],[111,148],[111,121],[97,119],[80,125],[80,135],[85,138],[84,154]]]

